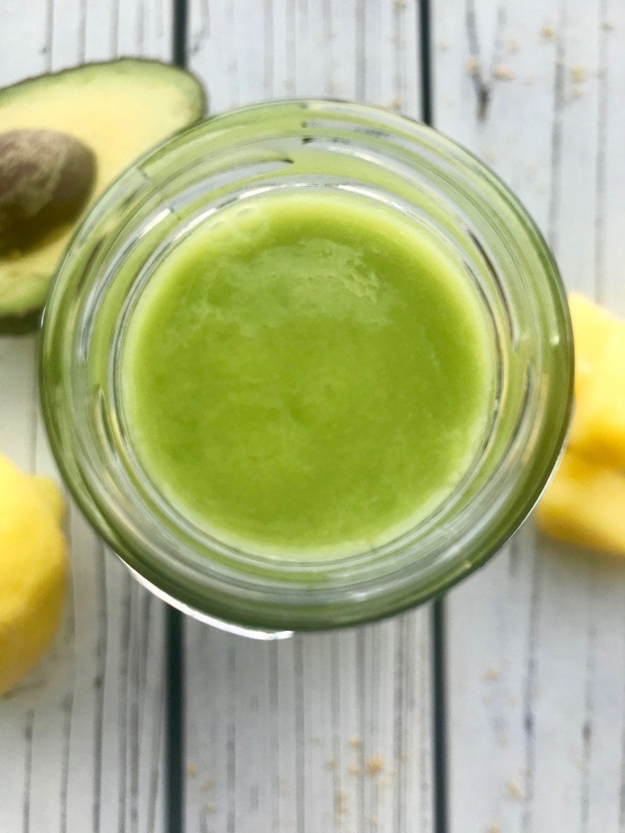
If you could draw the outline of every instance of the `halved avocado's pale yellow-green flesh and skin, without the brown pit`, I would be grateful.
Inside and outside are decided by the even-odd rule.
[[[21,247],[0,248],[0,321],[32,320],[32,313],[45,303],[74,228],[93,200],[136,157],[196,121],[205,108],[203,87],[191,73],[138,58],[91,63],[0,89],[0,138],[25,129],[56,131],[77,140],[95,157],[90,197],[77,217],[48,227]]]

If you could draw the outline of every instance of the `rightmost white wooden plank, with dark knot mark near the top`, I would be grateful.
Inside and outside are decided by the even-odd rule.
[[[479,54],[473,6],[435,3],[437,126],[519,193],[567,286],[622,314],[622,5],[474,6]],[[531,523],[450,593],[451,831],[623,829],[623,602],[621,561],[555,546]]]

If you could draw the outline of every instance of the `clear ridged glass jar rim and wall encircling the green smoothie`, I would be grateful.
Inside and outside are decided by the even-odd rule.
[[[497,391],[463,481],[384,546],[318,562],[238,550],[173,511],[137,465],[119,358],[138,293],[198,222],[277,188],[355,189],[443,240],[478,287]],[[572,402],[572,333],[557,267],[493,172],[438,132],[374,107],[261,104],[189,127],[128,168],[82,223],[42,332],[41,390],[58,465],[92,526],[152,591],[253,636],[372,621],[483,565],[547,482]]]

